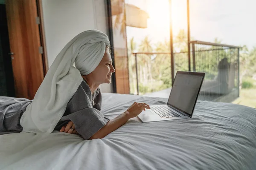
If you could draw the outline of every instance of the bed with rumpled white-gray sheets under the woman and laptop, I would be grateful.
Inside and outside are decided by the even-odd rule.
[[[166,98],[102,95],[112,119],[133,102]],[[103,139],[15,133],[0,136],[1,170],[255,170],[256,109],[198,101],[192,119],[142,123],[138,118]]]

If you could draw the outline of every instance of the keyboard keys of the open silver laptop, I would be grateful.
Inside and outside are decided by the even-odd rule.
[[[169,108],[167,105],[151,106],[150,108],[161,118],[180,117],[180,115],[172,111],[172,109]]]

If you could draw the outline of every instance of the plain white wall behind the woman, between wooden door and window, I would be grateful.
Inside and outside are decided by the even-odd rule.
[[[108,32],[105,0],[42,0],[42,8],[49,67],[67,42],[82,31]],[[111,84],[100,88],[112,92]]]

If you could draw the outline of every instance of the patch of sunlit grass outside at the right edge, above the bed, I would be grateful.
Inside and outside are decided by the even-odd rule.
[[[232,103],[256,108],[256,88],[242,88],[240,90],[240,97]]]

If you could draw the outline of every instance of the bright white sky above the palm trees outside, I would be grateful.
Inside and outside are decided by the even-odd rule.
[[[149,14],[148,28],[127,27],[127,39],[137,43],[148,35],[151,42],[169,40],[169,0],[125,0]],[[256,46],[256,0],[190,0],[190,35],[228,45]],[[173,35],[187,31],[186,0],[172,0]]]

